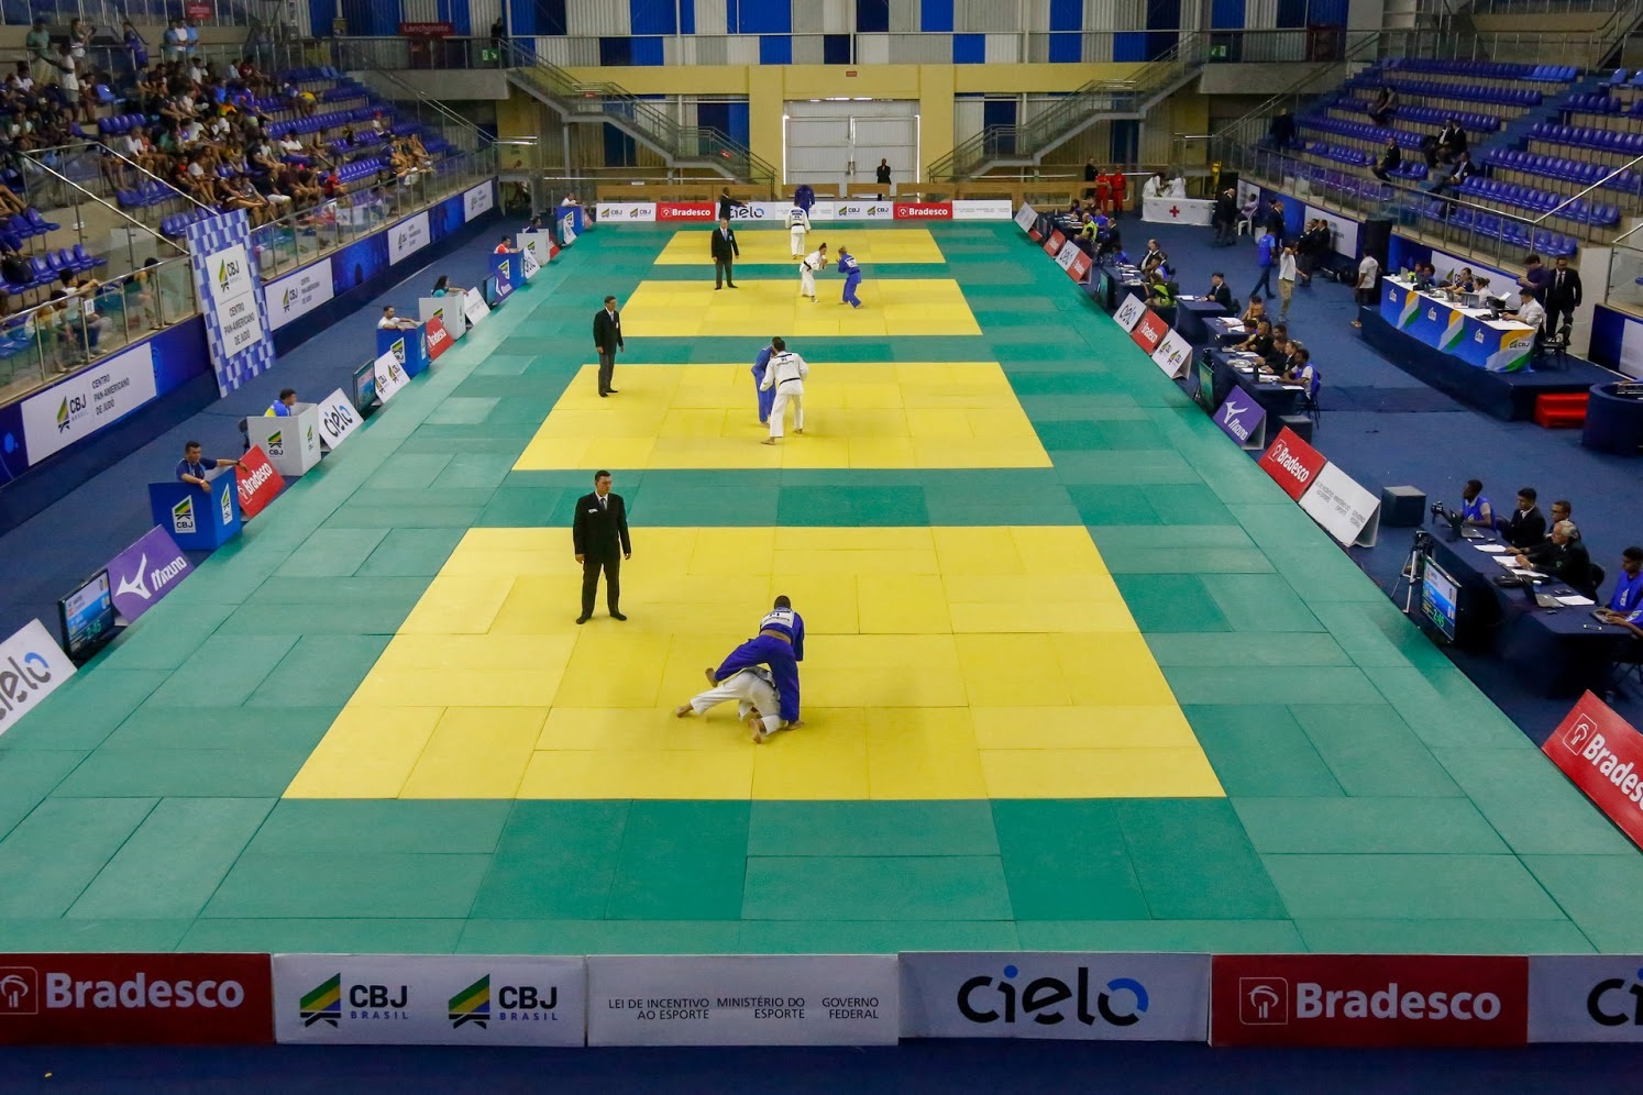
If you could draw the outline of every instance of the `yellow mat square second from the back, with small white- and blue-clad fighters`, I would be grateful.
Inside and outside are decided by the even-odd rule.
[[[715,289],[703,281],[642,281],[621,302],[623,335],[780,335],[794,341],[981,333],[964,294],[950,277],[868,277],[861,282],[859,309],[841,302],[845,281],[831,266],[817,276],[813,304],[798,296],[797,269],[780,281],[738,277],[736,286]]]

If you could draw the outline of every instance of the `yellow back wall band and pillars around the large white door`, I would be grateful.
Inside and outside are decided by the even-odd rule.
[[[874,64],[851,69],[840,64],[716,64],[570,69],[570,76],[588,84],[616,84],[634,95],[746,95],[752,151],[769,164],[782,163],[782,112],[792,99],[840,95],[914,99],[918,100],[918,128],[923,141],[920,153],[928,167],[953,151],[953,95],[1071,92],[1094,79],[1122,79],[1139,67],[1135,64]],[[1181,120],[1171,118],[1171,121]]]

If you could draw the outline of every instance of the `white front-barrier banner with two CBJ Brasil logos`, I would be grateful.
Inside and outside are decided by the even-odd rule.
[[[279,1042],[580,1046],[582,959],[276,954]]]

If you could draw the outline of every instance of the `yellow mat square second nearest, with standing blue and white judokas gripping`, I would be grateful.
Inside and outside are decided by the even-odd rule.
[[[795,340],[800,355],[805,343]],[[749,364],[619,364],[600,399],[587,364],[516,471],[564,468],[1048,468],[996,363],[810,366],[805,432],[761,445]]]

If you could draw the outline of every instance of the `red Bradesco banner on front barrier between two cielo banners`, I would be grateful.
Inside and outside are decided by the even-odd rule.
[[[1401,954],[1216,955],[1214,1046],[1521,1046],[1530,960]]]

